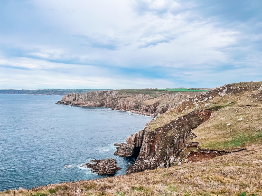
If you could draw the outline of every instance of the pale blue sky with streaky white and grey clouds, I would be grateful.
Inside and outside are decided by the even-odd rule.
[[[261,0],[1,0],[0,89],[262,81]]]

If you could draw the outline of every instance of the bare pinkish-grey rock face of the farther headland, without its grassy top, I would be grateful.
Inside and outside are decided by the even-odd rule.
[[[57,104],[85,107],[111,107],[112,109],[131,111],[147,116],[157,116],[158,113],[165,113],[168,109],[168,104],[159,107],[160,102],[144,105],[144,100],[152,98],[150,95],[139,94],[133,96],[133,100],[130,99],[130,97],[132,96],[125,98],[117,91],[89,91],[87,93],[70,93],[65,95]]]

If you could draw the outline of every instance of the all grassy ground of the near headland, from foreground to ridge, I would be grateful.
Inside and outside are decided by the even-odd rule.
[[[181,159],[196,150],[225,155],[124,176],[8,190],[0,196],[262,195],[261,87],[262,82],[226,84],[193,95],[150,123],[155,130],[192,111],[212,109],[211,118],[192,130],[195,137],[189,142],[198,142],[199,149],[185,147]]]

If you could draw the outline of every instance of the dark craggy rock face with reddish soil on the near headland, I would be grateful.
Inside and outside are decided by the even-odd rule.
[[[129,147],[139,147],[141,144],[141,148],[135,163],[128,167],[127,174],[155,169],[162,165],[169,166],[168,160],[185,146],[191,131],[208,120],[212,113],[212,110],[193,111],[152,131],[149,131],[149,126],[145,126],[144,130],[140,131],[144,135],[142,142],[140,140],[137,143],[133,142],[138,141],[135,136],[130,140]],[[134,135],[140,134],[138,132]],[[126,148],[123,152],[127,150],[129,149]]]

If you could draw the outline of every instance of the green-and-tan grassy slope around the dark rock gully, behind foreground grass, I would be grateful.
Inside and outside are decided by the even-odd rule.
[[[245,87],[246,90],[223,97],[216,94],[213,98],[200,102],[198,107],[195,107],[190,102],[191,100],[182,102],[152,122],[151,130],[193,110],[213,109],[212,117],[193,130],[197,136],[193,141],[199,142],[201,149],[236,151],[248,145],[262,144],[262,91],[259,93],[258,90],[262,86],[262,82],[236,83],[233,86],[235,89]],[[251,96],[249,97],[249,95]],[[206,103],[212,105],[199,108]],[[187,106],[188,108],[185,109]],[[218,109],[219,111],[217,111]],[[240,118],[243,120],[237,121]],[[228,123],[232,124],[226,126]]]

